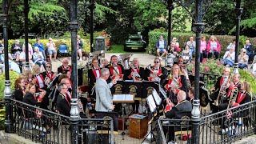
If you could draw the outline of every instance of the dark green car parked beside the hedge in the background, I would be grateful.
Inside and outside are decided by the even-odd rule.
[[[124,50],[145,50],[146,42],[142,39],[141,34],[129,34],[128,40],[126,40]]]

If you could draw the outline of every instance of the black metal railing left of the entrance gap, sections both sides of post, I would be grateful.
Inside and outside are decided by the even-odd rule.
[[[13,132],[33,142],[71,143],[70,117],[10,99]],[[78,143],[114,143],[112,118],[81,118]]]

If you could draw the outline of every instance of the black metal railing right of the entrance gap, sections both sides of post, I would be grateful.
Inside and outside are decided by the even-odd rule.
[[[200,143],[231,143],[256,133],[256,100],[203,116],[200,121]],[[190,118],[158,119],[158,143],[188,141],[191,136]],[[170,136],[170,133],[172,134]]]

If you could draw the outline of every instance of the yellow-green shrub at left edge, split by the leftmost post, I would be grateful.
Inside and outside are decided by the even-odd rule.
[[[10,72],[10,89],[14,90],[14,81],[15,79],[18,78],[19,75],[13,70],[9,70],[9,72]],[[0,75],[0,99],[4,98],[5,80],[6,80],[6,74],[3,73],[2,75]]]

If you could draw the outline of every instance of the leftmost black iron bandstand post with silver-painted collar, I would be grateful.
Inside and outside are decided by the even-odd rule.
[[[2,20],[2,33],[4,39],[4,51],[5,51],[5,74],[6,74],[6,81],[5,81],[5,103],[6,103],[6,118],[5,118],[5,132],[11,133],[13,130],[12,127],[12,120],[11,120],[11,90],[10,90],[10,77],[9,77],[9,59],[8,59],[8,9],[9,9],[8,0],[2,1],[2,14],[0,15]]]

